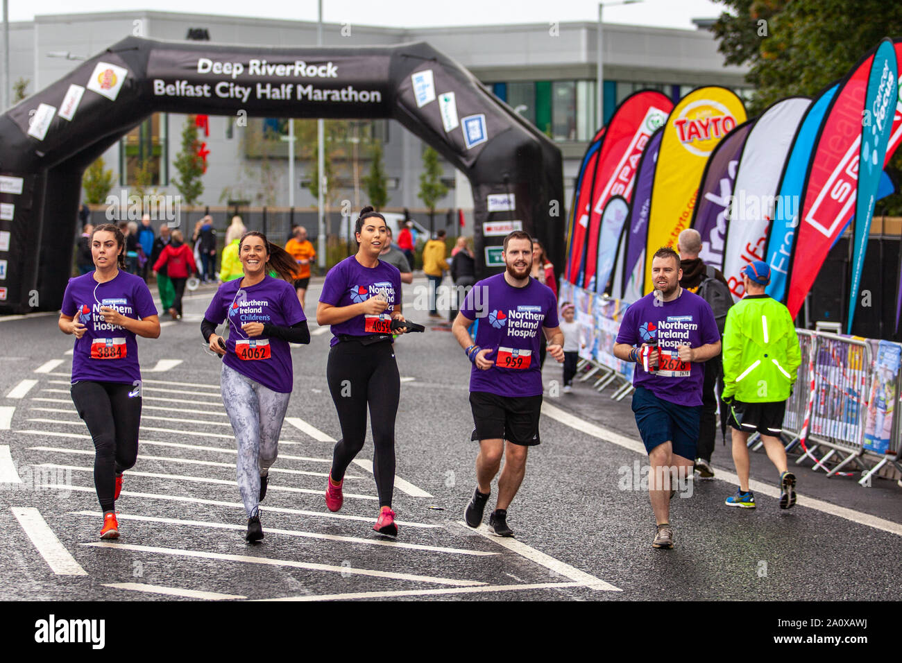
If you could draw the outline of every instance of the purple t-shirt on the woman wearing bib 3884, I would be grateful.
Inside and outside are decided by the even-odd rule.
[[[75,339],[72,349],[72,382],[125,382],[141,380],[138,344],[134,332],[101,319],[100,307],[115,308],[127,318],[157,315],[151,291],[143,279],[119,272],[112,281],[98,283],[95,272],[69,279],[62,296],[63,315],[85,326],[85,335]]]

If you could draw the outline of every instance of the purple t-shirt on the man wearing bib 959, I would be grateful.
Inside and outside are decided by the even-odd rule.
[[[494,352],[486,356],[495,365],[481,371],[473,364],[470,391],[498,396],[538,396],[542,368],[538,361],[542,327],[558,327],[557,300],[547,285],[535,279],[522,288],[504,280],[504,273],[478,281],[464,299],[460,312],[479,318],[476,345]]]

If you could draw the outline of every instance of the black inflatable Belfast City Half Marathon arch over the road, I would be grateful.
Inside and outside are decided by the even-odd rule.
[[[60,307],[82,174],[123,134],[158,111],[242,110],[394,118],[470,180],[480,276],[499,271],[485,248],[501,244],[492,232],[503,221],[520,221],[563,264],[560,151],[427,43],[266,49],[129,37],[0,115],[0,311]]]

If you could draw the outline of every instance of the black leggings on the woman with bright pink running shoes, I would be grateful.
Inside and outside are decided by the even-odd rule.
[[[364,448],[366,405],[373,426],[373,475],[379,506],[391,506],[394,492],[394,422],[400,399],[400,374],[389,342],[354,341],[329,351],[326,379],[335,401],[342,438],[332,454],[332,479],[341,481],[347,466]]]

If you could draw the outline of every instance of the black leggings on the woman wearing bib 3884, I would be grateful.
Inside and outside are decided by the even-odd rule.
[[[132,468],[138,457],[141,396],[129,395],[137,389],[124,382],[82,380],[72,385],[72,402],[97,450],[94,487],[104,511],[114,510],[115,474]]]

